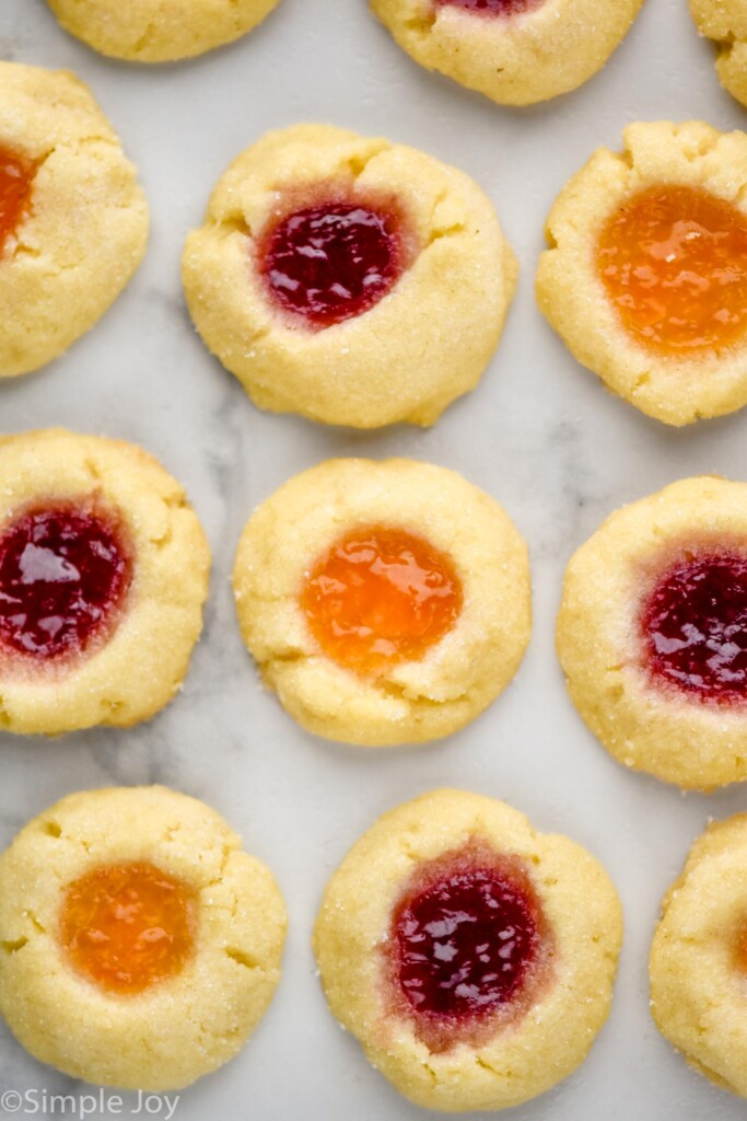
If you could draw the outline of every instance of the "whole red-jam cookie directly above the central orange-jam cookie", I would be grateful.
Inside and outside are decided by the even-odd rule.
[[[432,424],[473,389],[516,271],[461,172],[320,124],[243,152],[183,257],[203,341],[260,408],[358,428]]]

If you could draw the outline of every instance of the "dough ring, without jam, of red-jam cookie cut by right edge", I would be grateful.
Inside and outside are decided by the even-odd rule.
[[[747,708],[652,680],[638,631],[657,574],[702,543],[747,552],[747,483],[684,479],[610,515],[568,565],[558,656],[573,704],[619,762],[710,790],[747,779]]]

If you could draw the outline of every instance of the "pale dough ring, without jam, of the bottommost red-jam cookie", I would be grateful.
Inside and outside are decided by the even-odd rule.
[[[420,862],[475,840],[525,863],[552,941],[550,972],[519,1020],[432,1051],[387,999],[392,914]],[[582,1063],[609,1012],[622,934],[615,888],[585,849],[536,833],[505,803],[437,790],[356,842],[327,886],[314,945],[329,1007],[371,1063],[418,1105],[457,1112],[519,1105]]]

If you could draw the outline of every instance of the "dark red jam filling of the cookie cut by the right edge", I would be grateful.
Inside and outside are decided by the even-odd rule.
[[[654,679],[707,702],[747,702],[747,548],[695,550],[671,564],[641,624]]]

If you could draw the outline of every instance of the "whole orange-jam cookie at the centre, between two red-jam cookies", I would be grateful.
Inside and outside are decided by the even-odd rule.
[[[308,731],[424,742],[505,688],[531,630],[526,546],[442,467],[333,460],[250,518],[234,568],[244,641]]]

